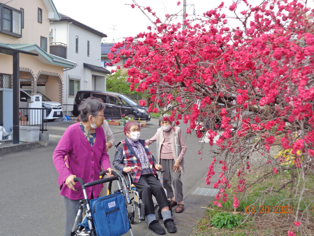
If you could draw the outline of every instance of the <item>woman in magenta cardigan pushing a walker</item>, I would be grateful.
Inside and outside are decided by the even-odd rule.
[[[97,180],[101,166],[109,171],[108,176],[112,176],[109,155],[106,152],[106,138],[101,127],[105,119],[104,108],[105,104],[98,99],[84,99],[78,108],[80,122],[68,127],[52,156],[59,174],[60,194],[64,196],[65,202],[64,235],[70,235],[79,200],[84,198],[80,184],[75,183],[73,178],[80,177],[85,183]],[[64,162],[66,155],[68,167]],[[101,189],[101,184],[86,188],[88,198],[97,198]]]

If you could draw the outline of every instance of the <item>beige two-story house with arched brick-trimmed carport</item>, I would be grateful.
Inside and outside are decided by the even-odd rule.
[[[39,54],[20,53],[20,87],[62,104],[63,71],[76,63],[49,53],[49,22],[60,19],[52,0],[14,0],[0,3],[0,11],[0,46]],[[12,56],[0,54],[0,88],[11,88],[12,63]]]

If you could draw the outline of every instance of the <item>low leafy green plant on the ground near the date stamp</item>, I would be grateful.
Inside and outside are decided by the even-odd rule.
[[[216,228],[232,229],[240,224],[241,219],[241,215],[233,215],[229,212],[224,211],[216,213],[210,222]]]

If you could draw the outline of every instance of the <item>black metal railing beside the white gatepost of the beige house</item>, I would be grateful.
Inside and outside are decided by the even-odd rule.
[[[39,126],[43,133],[47,131],[46,108],[19,108],[20,126]]]

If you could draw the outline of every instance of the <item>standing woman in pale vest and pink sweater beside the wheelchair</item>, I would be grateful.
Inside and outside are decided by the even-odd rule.
[[[157,142],[157,163],[162,165],[165,170],[163,173],[164,188],[167,190],[171,206],[177,205],[176,213],[181,213],[184,209],[181,173],[184,174],[183,155],[187,146],[182,138],[180,127],[171,128],[171,125],[169,115],[160,116],[160,128],[157,129],[154,137],[146,140],[146,143],[149,145]],[[171,183],[175,189],[175,194],[173,194]]]

